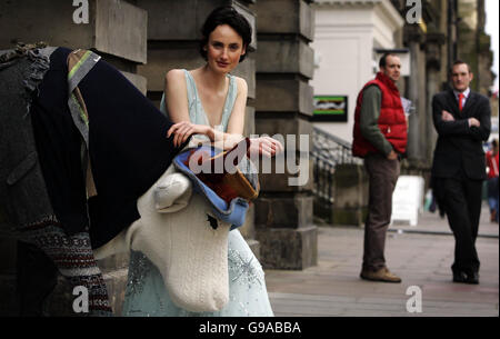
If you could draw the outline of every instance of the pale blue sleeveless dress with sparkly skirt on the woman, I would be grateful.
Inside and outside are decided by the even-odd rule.
[[[194,79],[184,71],[189,118],[196,124],[209,124]],[[229,77],[229,90],[219,128],[227,130],[237,97],[237,82]],[[161,111],[168,116],[164,97]],[[217,128],[217,127],[216,127]],[[264,272],[238,229],[228,237],[229,301],[217,312],[190,312],[174,305],[160,271],[141,252],[131,251],[122,316],[126,317],[272,317]]]

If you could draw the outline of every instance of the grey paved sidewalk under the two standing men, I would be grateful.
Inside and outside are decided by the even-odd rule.
[[[398,232],[398,230],[400,230]],[[498,225],[481,213],[477,249],[480,285],[453,283],[454,239],[446,219],[424,212],[417,227],[392,226],[386,242],[388,267],[401,283],[359,278],[363,230],[319,227],[318,266],[303,271],[266,270],[274,315],[280,317],[499,316]],[[409,313],[407,288],[422,291],[422,312]]]

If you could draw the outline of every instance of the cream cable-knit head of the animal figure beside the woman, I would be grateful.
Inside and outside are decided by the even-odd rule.
[[[161,272],[172,301],[194,312],[217,311],[229,300],[228,235],[208,201],[192,192],[173,164],[138,200],[141,219],[94,250],[97,259],[141,251]],[[211,218],[209,218],[209,216]]]

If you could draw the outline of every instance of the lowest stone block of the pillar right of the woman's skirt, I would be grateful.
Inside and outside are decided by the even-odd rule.
[[[266,269],[302,270],[318,265],[318,228],[257,229],[260,263]]]

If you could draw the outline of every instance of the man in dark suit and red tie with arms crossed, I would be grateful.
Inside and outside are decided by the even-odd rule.
[[[466,62],[456,61],[450,71],[452,89],[432,98],[439,134],[432,176],[456,240],[453,281],[479,283],[476,238],[486,179],[482,141],[490,136],[491,109],[488,98],[470,90],[473,74]]]

